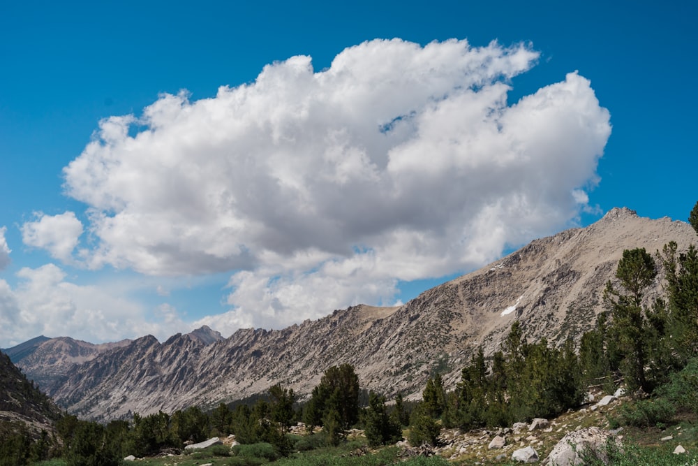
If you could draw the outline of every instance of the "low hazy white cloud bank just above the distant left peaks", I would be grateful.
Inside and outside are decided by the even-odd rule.
[[[54,264],[22,268],[17,277],[15,289],[0,279],[3,347],[37,335],[106,342],[151,334],[162,341],[190,328],[170,305],[163,304],[150,313],[118,291],[70,282],[66,272]]]

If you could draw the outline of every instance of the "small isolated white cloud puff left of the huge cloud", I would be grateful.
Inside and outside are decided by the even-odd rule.
[[[82,235],[82,222],[74,212],[58,215],[34,214],[36,221],[22,225],[22,241],[27,246],[46,249],[55,259],[73,262],[73,250]]]

